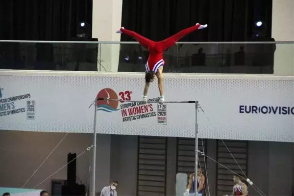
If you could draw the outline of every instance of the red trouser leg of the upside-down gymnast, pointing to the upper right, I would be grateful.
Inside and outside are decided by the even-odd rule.
[[[171,37],[161,41],[160,43],[162,44],[163,50],[166,50],[166,49],[170,48],[171,46],[173,46],[175,44],[175,42],[177,42],[178,40],[183,38],[185,35],[192,33],[195,30],[198,30],[200,28],[200,26],[201,26],[200,24],[196,24],[193,27],[181,30],[180,32],[172,35]]]

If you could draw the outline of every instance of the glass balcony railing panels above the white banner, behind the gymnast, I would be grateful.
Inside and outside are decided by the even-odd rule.
[[[178,42],[164,52],[164,71],[272,74],[293,54],[294,42]],[[147,58],[137,42],[0,40],[0,69],[143,72]]]

